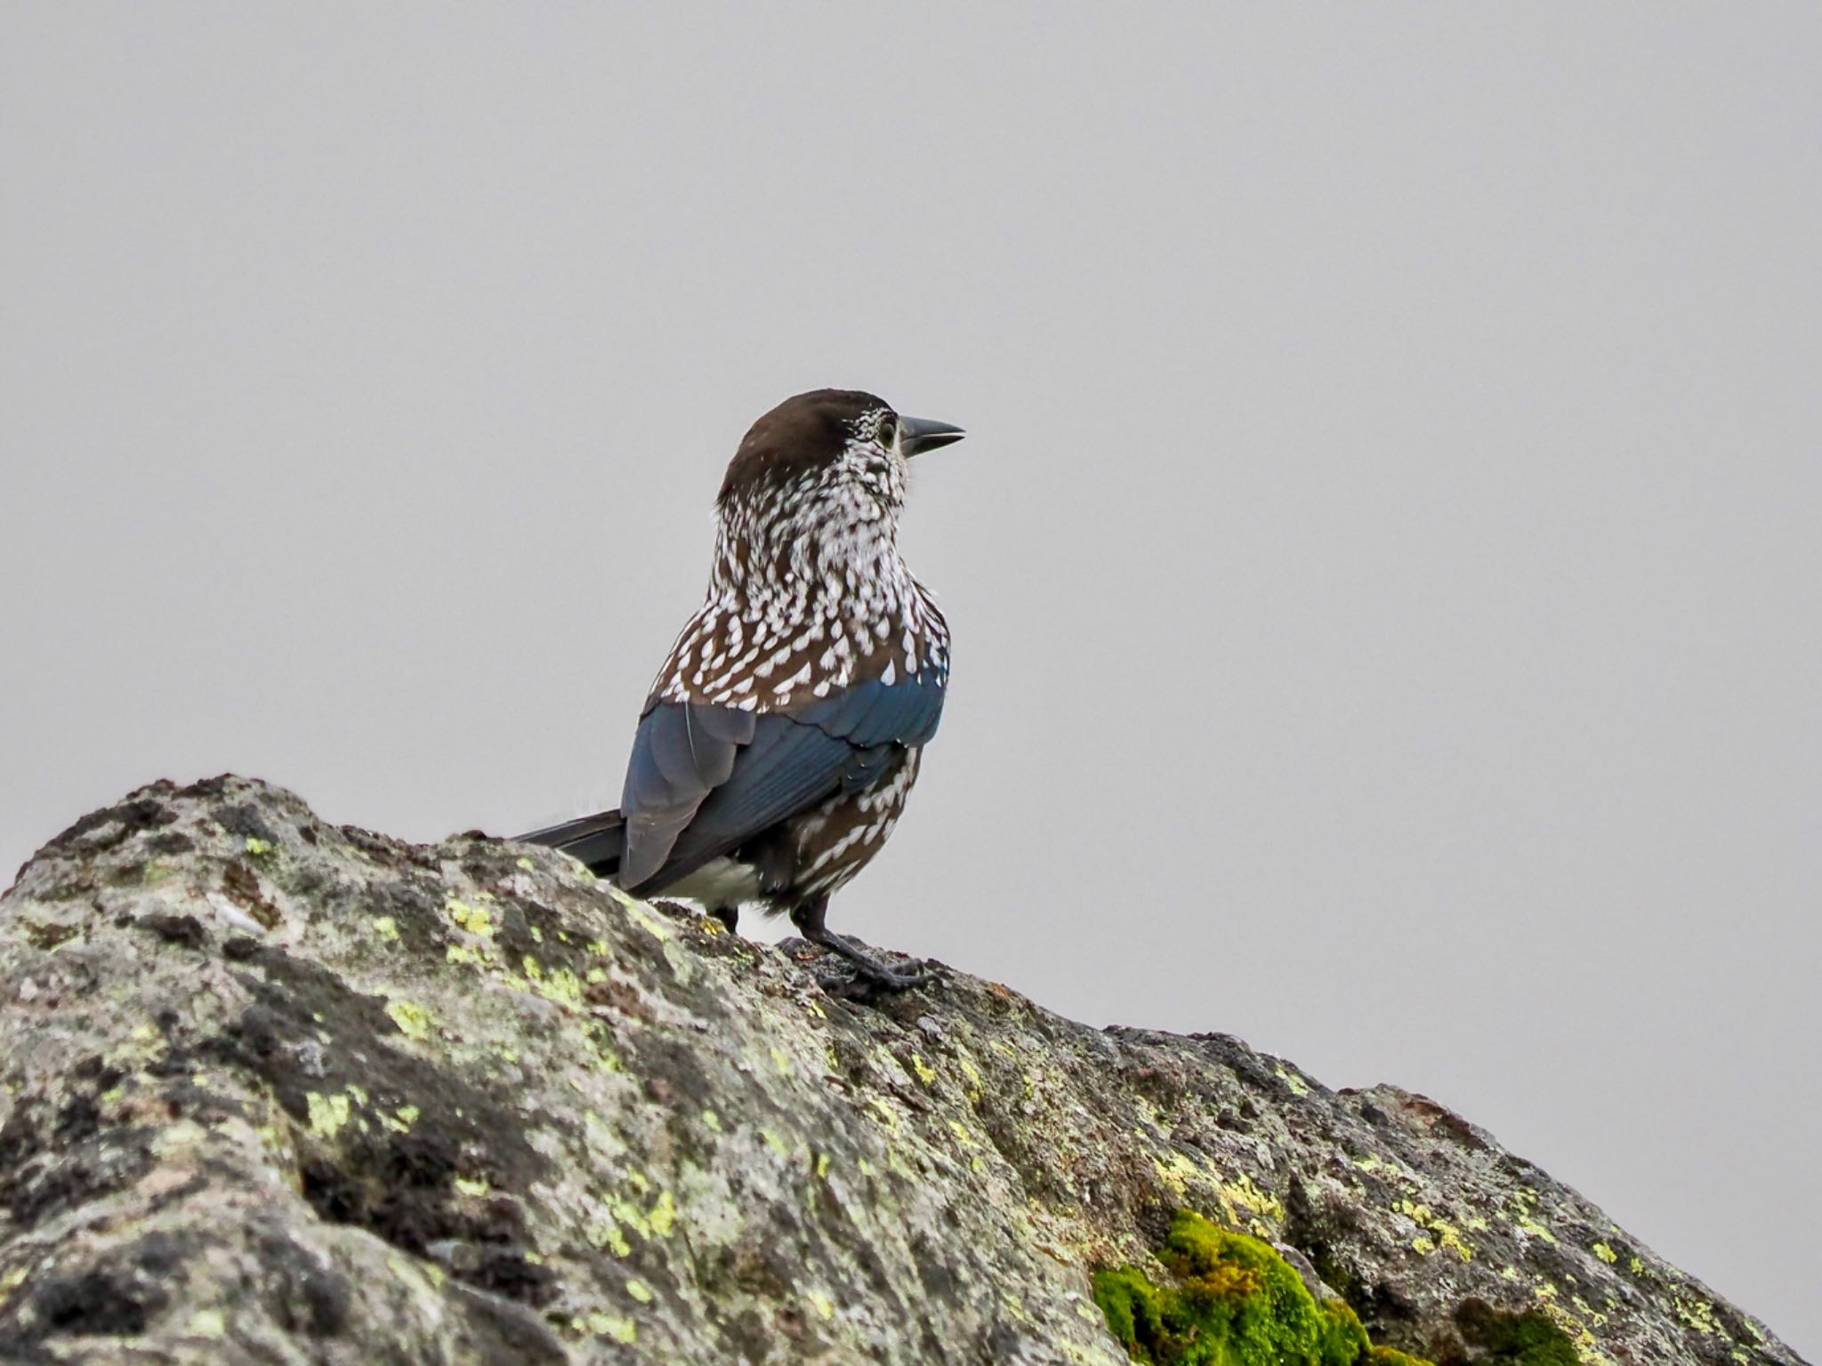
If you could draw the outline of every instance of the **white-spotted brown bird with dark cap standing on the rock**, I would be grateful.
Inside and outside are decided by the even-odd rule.
[[[652,681],[619,807],[519,836],[638,896],[789,914],[853,982],[906,991],[825,925],[885,845],[937,734],[949,625],[898,552],[909,461],[964,437],[862,390],[760,417],[716,497],[709,588]]]

